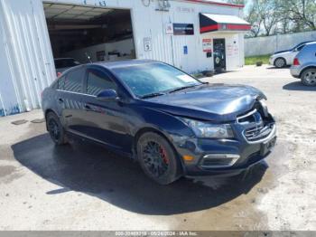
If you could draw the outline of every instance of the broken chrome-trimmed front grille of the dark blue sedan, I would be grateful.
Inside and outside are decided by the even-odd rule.
[[[243,134],[249,142],[260,141],[269,137],[274,129],[273,119],[265,118],[263,109],[260,107],[238,117],[237,123],[244,127]]]

